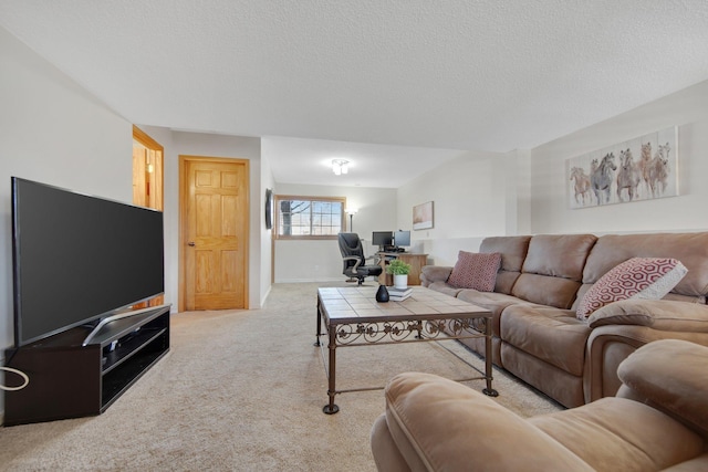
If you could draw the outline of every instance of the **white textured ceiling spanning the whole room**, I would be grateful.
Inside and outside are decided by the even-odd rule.
[[[133,123],[263,137],[282,182],[396,187],[708,80],[706,0],[0,0],[0,25]]]

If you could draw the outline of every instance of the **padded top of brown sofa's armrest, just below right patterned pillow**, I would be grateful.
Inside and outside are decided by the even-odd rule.
[[[595,311],[591,328],[638,325],[659,331],[708,333],[708,305],[669,300],[623,300]]]

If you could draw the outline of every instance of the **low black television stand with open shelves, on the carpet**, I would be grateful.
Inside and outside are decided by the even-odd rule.
[[[77,326],[7,349],[7,366],[25,373],[30,381],[21,390],[6,391],[4,426],[105,411],[169,350],[169,305],[134,313],[100,324],[95,333]]]

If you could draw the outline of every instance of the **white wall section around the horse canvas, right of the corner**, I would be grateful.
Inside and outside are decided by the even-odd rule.
[[[571,210],[565,160],[679,125],[680,196]],[[615,116],[531,153],[533,232],[635,232],[708,228],[708,82]]]

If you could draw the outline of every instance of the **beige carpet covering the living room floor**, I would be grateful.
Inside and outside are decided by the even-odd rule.
[[[339,395],[341,411],[322,412],[316,286],[275,284],[263,310],[174,315],[170,353],[105,413],[1,428],[0,470],[374,471],[368,433],[383,391]],[[482,366],[456,342],[342,348],[337,388],[406,370],[470,377],[444,345]],[[494,388],[522,416],[561,409],[499,370]]]

